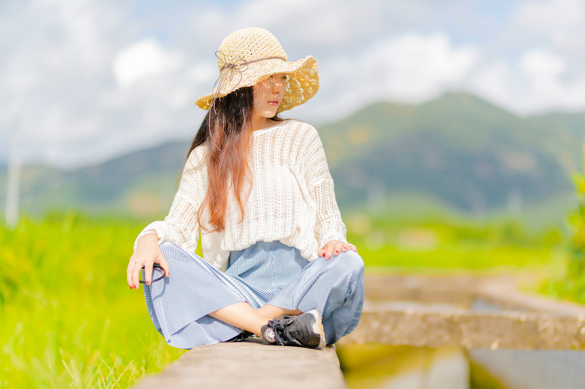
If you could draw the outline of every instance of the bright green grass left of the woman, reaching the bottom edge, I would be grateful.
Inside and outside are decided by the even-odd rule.
[[[126,388],[182,353],[126,284],[143,226],[68,214],[0,228],[0,388]]]

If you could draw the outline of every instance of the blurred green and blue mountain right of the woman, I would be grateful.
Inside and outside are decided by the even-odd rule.
[[[572,190],[582,114],[522,119],[466,93],[378,103],[320,127],[341,204],[410,189],[481,213]]]

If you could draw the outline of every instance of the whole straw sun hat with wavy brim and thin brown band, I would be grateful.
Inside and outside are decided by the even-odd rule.
[[[250,27],[229,34],[215,53],[219,78],[212,93],[199,98],[195,105],[209,109],[216,98],[243,86],[252,86],[273,74],[288,75],[286,93],[277,113],[307,102],[319,90],[317,61],[311,55],[287,62],[287,54],[276,37],[267,30]]]

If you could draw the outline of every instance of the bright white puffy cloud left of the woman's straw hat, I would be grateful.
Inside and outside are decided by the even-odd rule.
[[[177,70],[183,65],[183,55],[164,51],[154,39],[141,40],[118,51],[112,69],[116,80],[128,86],[144,76]]]

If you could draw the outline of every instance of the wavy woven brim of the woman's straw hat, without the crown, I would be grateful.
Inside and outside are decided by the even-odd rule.
[[[266,62],[266,63],[264,63]],[[295,62],[285,62],[282,60],[267,60],[250,64],[245,72],[242,72],[242,79],[239,75],[233,77],[232,82],[226,82],[218,97],[228,95],[228,93],[242,88],[243,86],[253,86],[257,82],[269,78],[273,74],[286,73],[288,75],[286,93],[278,106],[277,113],[291,109],[315,96],[319,90],[319,67],[315,58],[311,55]],[[239,81],[239,84],[237,84]],[[236,86],[237,85],[237,86]],[[209,109],[213,93],[201,96],[196,102],[201,109]]]

